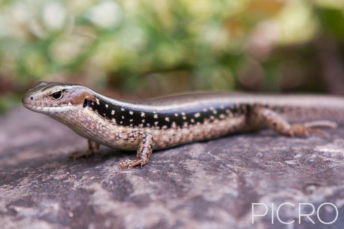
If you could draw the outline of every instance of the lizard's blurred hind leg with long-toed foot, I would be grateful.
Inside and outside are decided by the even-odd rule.
[[[289,124],[281,115],[265,107],[254,107],[248,118],[252,127],[269,127],[275,132],[287,136],[309,136],[310,132],[324,135],[325,132],[316,127],[337,127],[337,124],[331,121]]]

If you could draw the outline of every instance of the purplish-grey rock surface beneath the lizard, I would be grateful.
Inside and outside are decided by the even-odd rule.
[[[255,228],[343,228],[344,127],[328,136],[277,136],[270,130],[154,152],[147,166],[118,170],[134,152],[101,147],[89,158],[69,153],[86,140],[24,108],[0,117],[1,228],[252,228],[252,203],[269,212]],[[292,225],[280,223],[276,217]],[[331,225],[302,218],[298,203],[330,202]],[[271,224],[274,203],[274,224]],[[265,208],[256,206],[257,214]],[[302,212],[312,211],[311,207]],[[335,209],[320,211],[332,221]]]

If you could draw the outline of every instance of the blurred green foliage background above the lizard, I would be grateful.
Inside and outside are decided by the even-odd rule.
[[[0,111],[38,80],[116,97],[344,94],[343,0],[1,0]]]

